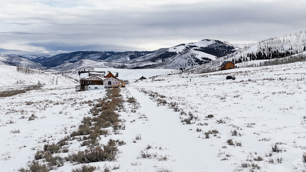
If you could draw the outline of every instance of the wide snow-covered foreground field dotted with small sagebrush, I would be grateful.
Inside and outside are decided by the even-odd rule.
[[[301,171],[293,163],[306,152],[305,69],[306,62],[297,62],[130,83],[121,88],[121,95],[125,100],[136,98],[140,108],[135,112],[125,102],[125,110],[118,112],[126,120],[125,130],[100,140],[120,139],[126,144],[118,147],[116,161],[90,164],[101,170],[105,164],[120,165],[112,170],[118,172],[252,171],[252,166],[254,171]],[[156,71],[151,76],[159,75]],[[125,80],[121,73],[119,78]],[[236,80],[226,80],[227,75]],[[91,106],[85,102],[105,96],[104,90],[74,92],[74,85],[46,84],[0,99],[1,171],[26,167],[44,144],[57,143],[90,116]],[[37,118],[28,121],[32,114]],[[139,134],[141,139],[135,140]],[[274,145],[282,151],[272,152]],[[73,142],[68,149],[71,153],[84,147]],[[140,151],[165,158],[139,158]],[[65,162],[52,171],[77,166]]]

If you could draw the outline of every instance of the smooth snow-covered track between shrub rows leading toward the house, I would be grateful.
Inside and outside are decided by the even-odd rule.
[[[218,166],[220,159],[217,157],[216,150],[219,150],[223,144],[221,140],[220,144],[211,145],[211,141],[195,137],[193,131],[189,131],[191,125],[182,125],[178,112],[168,109],[167,106],[157,107],[156,102],[135,88],[127,89],[131,92],[129,96],[136,98],[141,105],[137,112],[145,114],[148,118],[148,121],[143,124],[139,124],[139,122],[138,124],[127,123],[124,131],[124,135],[131,137],[136,134],[142,136],[142,140],[137,140],[137,143],[129,143],[134,145],[130,145],[129,150],[123,150],[120,155],[122,159],[129,159],[130,163],[140,162],[142,164],[132,166],[133,169],[130,170],[138,171],[139,168],[141,171],[156,171],[152,166],[159,166],[172,168],[173,171],[204,171],[208,169],[224,171],[226,170],[225,166],[230,166],[230,164]],[[170,155],[170,159],[168,161],[136,159],[140,151],[144,150],[147,144],[152,143],[167,148],[167,150],[158,151],[158,154]],[[157,150],[149,151],[155,153]],[[207,154],[211,156],[207,156]],[[127,164],[122,166],[122,169],[127,168],[131,168],[131,166]],[[150,168],[151,170],[149,170]]]

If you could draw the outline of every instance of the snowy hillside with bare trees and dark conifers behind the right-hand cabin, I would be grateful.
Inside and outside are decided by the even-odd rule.
[[[293,35],[274,37],[255,44],[244,45],[240,50],[218,58],[210,63],[192,69],[193,72],[211,72],[218,70],[224,61],[234,62],[241,67],[266,63],[274,65],[306,60],[306,31]],[[262,64],[264,65],[264,64]]]

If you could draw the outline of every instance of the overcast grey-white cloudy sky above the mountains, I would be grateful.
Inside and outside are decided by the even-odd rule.
[[[306,30],[305,0],[1,0],[0,54],[256,43]]]

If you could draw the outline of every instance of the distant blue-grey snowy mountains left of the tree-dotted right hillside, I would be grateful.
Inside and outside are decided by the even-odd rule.
[[[159,68],[190,69],[235,52],[240,46],[218,40],[204,39],[155,51],[98,52],[76,51],[49,55],[6,55],[3,62],[30,68],[54,67],[71,71],[84,67],[113,67],[127,69]],[[16,59],[18,59],[17,62]],[[23,62],[26,61],[26,62]],[[34,65],[34,64],[38,65]],[[82,67],[81,67],[82,66]],[[77,69],[76,69],[77,68]]]

